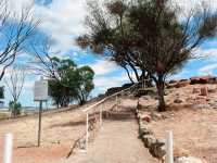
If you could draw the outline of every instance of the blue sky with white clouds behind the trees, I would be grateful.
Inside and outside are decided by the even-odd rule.
[[[217,0],[205,0],[212,3],[212,9],[217,9]],[[22,8],[33,4],[33,14],[40,20],[37,28],[38,38],[50,37],[54,42],[52,51],[61,58],[69,58],[78,65],[89,65],[95,72],[95,88],[91,96],[95,97],[103,93],[110,87],[122,86],[128,83],[128,77],[119,66],[108,62],[103,58],[93,54],[91,51],[79,49],[75,43],[75,38],[85,34],[87,30],[84,25],[87,15],[86,0],[8,0],[11,11],[21,13]],[[187,13],[202,0],[171,0],[182,8]],[[1,42],[0,42],[1,45]],[[208,58],[203,60],[191,60],[187,65],[171,78],[189,78],[197,75],[217,75],[217,38],[207,40],[194,51],[195,54],[205,54]],[[28,52],[18,55],[16,62],[24,64],[29,59]],[[8,74],[10,68],[8,70]],[[40,77],[27,72],[26,82],[20,101],[23,105],[36,105],[34,102],[34,83]],[[5,75],[7,79],[9,75]],[[4,85],[1,82],[1,85]],[[7,87],[5,87],[7,88]],[[11,100],[8,89],[5,89],[5,104]]]

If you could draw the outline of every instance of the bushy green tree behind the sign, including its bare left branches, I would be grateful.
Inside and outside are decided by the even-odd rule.
[[[49,49],[48,42],[43,43],[40,52],[34,48],[33,72],[49,78],[50,92],[55,104],[67,106],[73,100],[84,104],[94,88],[93,71],[89,66],[77,67],[71,59],[51,58]]]

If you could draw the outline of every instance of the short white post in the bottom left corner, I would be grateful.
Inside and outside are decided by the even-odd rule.
[[[12,151],[13,151],[13,135],[7,134],[4,137],[3,163],[12,163]]]

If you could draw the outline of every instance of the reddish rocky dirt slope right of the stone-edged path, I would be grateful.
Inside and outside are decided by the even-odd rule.
[[[208,87],[207,97],[192,93],[193,89]],[[168,111],[162,113],[166,118],[152,121],[149,126],[157,138],[165,139],[166,131],[173,130],[175,148],[183,149],[186,153],[217,162],[217,86],[196,85],[169,90],[166,96]],[[174,103],[181,99],[181,103]],[[156,100],[143,102],[149,108],[156,108]]]

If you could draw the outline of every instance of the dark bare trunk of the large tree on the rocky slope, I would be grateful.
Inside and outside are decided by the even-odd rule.
[[[164,99],[164,80],[163,80],[163,77],[158,77],[156,88],[157,88],[157,93],[158,93],[158,111],[165,112],[166,111],[166,103],[165,103],[165,99]]]

